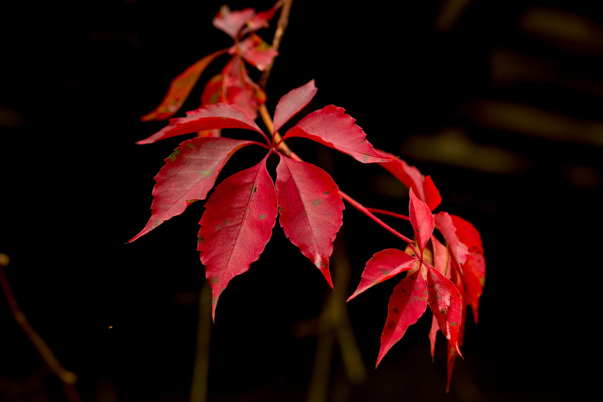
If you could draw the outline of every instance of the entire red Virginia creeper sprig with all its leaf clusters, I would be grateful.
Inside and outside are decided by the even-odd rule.
[[[259,259],[270,241],[277,215],[289,240],[320,269],[332,286],[329,257],[333,252],[332,242],[343,223],[343,198],[408,243],[406,251],[388,249],[374,254],[367,262],[358,289],[349,298],[355,298],[376,283],[406,273],[390,298],[377,365],[429,304],[434,316],[429,334],[432,356],[438,328],[448,342],[449,386],[456,354],[461,354],[459,347],[463,344],[467,304],[472,307],[476,322],[478,319],[485,278],[481,237],[472,224],[458,216],[446,212],[434,215],[432,211],[440,204],[441,196],[431,177],[423,177],[418,169],[403,160],[374,149],[355,119],[346,115],[343,108],[323,107],[280,136],[280,128],[314,97],[317,91],[314,80],[280,98],[273,123],[264,106],[266,95],[248,77],[244,61],[260,71],[270,71],[278,53],[254,31],[267,27],[282,3],[279,1],[262,13],[251,8],[230,11],[222,7],[213,25],[229,34],[235,45],[207,55],[174,78],[161,104],[142,117],[143,121],[150,121],[173,116],[206,66],[221,54],[232,55],[221,74],[206,84],[200,108],[186,112],[186,117],[170,119],[162,130],[137,142],[147,144],[197,133],[197,137],[180,143],[165,159],[165,166],[155,177],[151,218],[130,242],[180,215],[194,201],[205,199],[219,172],[238,149],[248,145],[265,148],[267,153],[257,165],[226,178],[215,187],[199,222],[198,250],[212,287],[212,316],[215,318],[219,295],[229,281]],[[254,122],[258,111],[268,135]],[[220,137],[220,130],[224,128],[255,131],[265,143]],[[362,163],[379,163],[410,189],[409,215],[362,206],[341,192],[327,172],[294,154],[283,142],[291,137],[314,140]],[[272,154],[280,158],[276,183],[266,168]],[[414,239],[403,236],[373,212],[410,221]],[[445,245],[434,236],[434,228],[440,231]]]

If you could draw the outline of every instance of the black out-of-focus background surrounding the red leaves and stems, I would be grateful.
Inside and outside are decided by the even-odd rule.
[[[601,14],[596,2],[496,0],[446,25],[443,4],[296,0],[268,83],[273,111],[314,78],[308,111],[346,108],[373,145],[432,175],[439,210],[473,222],[484,240],[480,321],[467,324],[450,394],[443,338],[435,363],[429,356],[430,318],[373,368],[394,280],[349,303],[368,378],[347,382],[335,351],[329,400],[598,400]],[[0,252],[22,310],[77,372],[84,401],[188,400],[203,201],[124,243],[147,222],[153,177],[185,139],[135,145],[163,127],[139,116],[186,66],[230,46],[211,25],[220,5],[15,2],[2,11]],[[275,23],[259,32],[268,41]],[[198,106],[201,88],[183,110]],[[405,213],[405,189],[379,166],[308,140],[289,145],[366,206]],[[256,163],[251,148],[218,182]],[[336,289],[346,294],[373,253],[403,248],[347,204],[337,241],[352,262],[350,289]],[[320,312],[326,292],[277,224],[260,260],[221,296],[210,400],[304,400],[316,341],[292,327]],[[2,300],[0,322],[0,398],[62,401]]]

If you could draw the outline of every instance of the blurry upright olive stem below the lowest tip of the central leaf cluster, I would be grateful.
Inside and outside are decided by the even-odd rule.
[[[199,319],[197,322],[197,350],[192,371],[191,402],[207,400],[207,375],[209,374],[209,341],[212,334],[212,287],[203,281],[199,292]]]

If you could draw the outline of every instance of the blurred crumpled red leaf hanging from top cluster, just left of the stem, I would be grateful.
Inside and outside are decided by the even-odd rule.
[[[249,78],[241,57],[233,57],[224,66],[222,76],[222,99],[226,99],[224,102],[240,107],[255,120],[257,109],[266,103],[266,93]]]

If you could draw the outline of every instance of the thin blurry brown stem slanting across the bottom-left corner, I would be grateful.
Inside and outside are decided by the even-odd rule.
[[[19,308],[19,304],[17,303],[17,299],[14,297],[10,283],[8,283],[8,278],[4,274],[4,268],[8,266],[9,262],[10,260],[8,259],[8,256],[0,253],[0,284],[2,286],[4,296],[8,301],[8,307],[10,307],[10,311],[13,313],[15,321],[17,321],[17,324],[19,324],[27,337],[30,338],[31,343],[34,344],[34,347],[36,347],[46,365],[48,365],[54,374],[57,375],[58,379],[61,380],[68,400],[70,402],[81,402],[80,395],[74,387],[74,384],[77,382],[77,375],[63,367],[63,365],[58,361],[57,357],[54,356],[54,353],[52,353],[52,350],[48,347],[48,344],[46,344],[44,339],[42,339],[42,336],[40,336],[40,334],[38,334],[31,326],[30,322],[27,320],[27,316],[25,316],[25,313],[21,311],[21,308]]]

